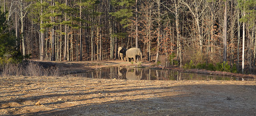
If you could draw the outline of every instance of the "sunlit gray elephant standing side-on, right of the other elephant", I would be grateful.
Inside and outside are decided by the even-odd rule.
[[[140,56],[141,61],[143,62],[142,52],[141,52],[140,48],[132,47],[132,48],[130,48],[126,51],[126,59],[127,59],[128,62],[131,61],[131,58],[133,58],[134,61],[137,62],[136,58],[139,57],[139,56]]]

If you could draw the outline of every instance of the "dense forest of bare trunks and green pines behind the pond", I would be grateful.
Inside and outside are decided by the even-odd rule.
[[[256,68],[256,0],[1,0],[0,6],[18,49],[31,59],[116,60],[122,46],[164,66]]]

